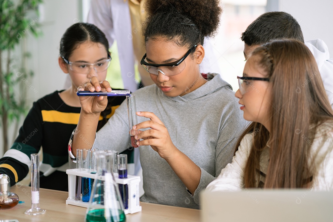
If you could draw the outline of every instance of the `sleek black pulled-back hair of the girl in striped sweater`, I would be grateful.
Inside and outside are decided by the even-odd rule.
[[[105,34],[93,24],[75,23],[69,27],[60,40],[60,56],[68,59],[78,44],[85,41],[101,43],[110,56],[109,42]]]

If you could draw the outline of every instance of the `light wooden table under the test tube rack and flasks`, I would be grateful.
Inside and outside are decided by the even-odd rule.
[[[19,222],[43,221],[43,222],[68,222],[84,221],[87,208],[67,205],[68,192],[40,189],[40,207],[46,210],[44,215],[28,216],[24,212],[31,208],[31,187],[12,186],[11,192],[16,193],[20,203],[9,210],[0,210],[0,220],[17,219]],[[127,214],[127,222],[187,222],[200,221],[200,211],[195,209],[173,207],[161,204],[141,202],[142,211],[135,214]]]

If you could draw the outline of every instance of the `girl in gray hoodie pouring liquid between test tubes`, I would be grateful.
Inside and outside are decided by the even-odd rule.
[[[150,18],[144,28],[146,54],[141,64],[155,85],[135,92],[140,129],[136,139],[143,169],[144,202],[199,208],[199,192],[230,162],[245,126],[229,84],[218,74],[201,74],[205,36],[219,24],[217,0],[147,1]],[[93,77],[85,90],[111,91]],[[79,89],[83,90],[83,89]],[[104,97],[80,97],[82,111],[69,143],[76,149],[104,147],[122,151],[130,143],[126,103],[97,133]],[[94,141],[95,140],[95,141]]]

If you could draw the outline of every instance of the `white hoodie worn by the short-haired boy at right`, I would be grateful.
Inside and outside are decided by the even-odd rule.
[[[328,101],[333,108],[333,59],[330,59],[328,47],[321,39],[308,41],[305,45],[310,49],[316,59]]]

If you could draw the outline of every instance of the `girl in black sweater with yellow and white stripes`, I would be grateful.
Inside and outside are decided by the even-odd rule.
[[[108,49],[104,33],[92,24],[76,23],[66,30],[60,41],[59,66],[69,74],[72,85],[33,104],[14,144],[0,159],[0,173],[10,176],[11,186],[28,174],[30,154],[38,153],[43,147],[40,187],[68,191],[68,134],[76,127],[81,111],[76,91],[91,77],[105,80],[111,60]],[[124,97],[114,99],[99,116],[98,128]]]

